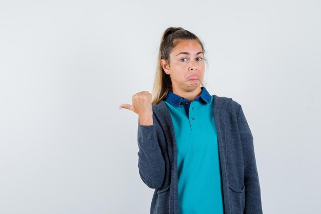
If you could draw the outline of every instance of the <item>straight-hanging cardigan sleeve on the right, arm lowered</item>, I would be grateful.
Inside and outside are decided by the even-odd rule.
[[[245,118],[242,106],[239,105],[237,124],[242,142],[244,157],[245,210],[244,214],[260,214],[262,203],[256,160],[254,154],[253,136]]]

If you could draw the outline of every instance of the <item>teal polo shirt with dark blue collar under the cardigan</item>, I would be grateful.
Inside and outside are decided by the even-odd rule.
[[[192,101],[169,92],[164,101],[177,145],[179,214],[223,214],[213,96],[203,86]]]

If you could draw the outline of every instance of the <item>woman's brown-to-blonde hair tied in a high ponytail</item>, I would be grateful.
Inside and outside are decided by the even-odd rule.
[[[162,39],[160,40],[156,73],[152,88],[152,105],[157,105],[160,101],[165,100],[168,92],[172,91],[172,81],[170,76],[165,74],[165,71],[160,64],[160,60],[165,59],[167,60],[168,64],[170,64],[169,55],[173,48],[181,40],[196,40],[202,47],[203,54],[205,54],[203,43],[195,34],[181,27],[167,28],[163,33]],[[206,61],[205,57],[204,60]],[[201,85],[204,86],[204,80],[202,81]]]

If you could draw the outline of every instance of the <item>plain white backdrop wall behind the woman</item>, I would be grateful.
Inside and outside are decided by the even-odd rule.
[[[137,119],[160,37],[205,45],[206,88],[242,105],[264,213],[320,213],[319,1],[0,2],[0,213],[149,213]]]

